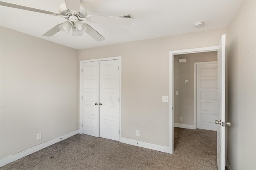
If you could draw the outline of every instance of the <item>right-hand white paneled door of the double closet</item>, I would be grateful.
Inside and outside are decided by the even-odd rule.
[[[100,137],[119,141],[119,61],[100,61]]]

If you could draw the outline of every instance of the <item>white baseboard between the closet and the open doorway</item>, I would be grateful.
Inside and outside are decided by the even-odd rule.
[[[126,138],[121,138],[120,142],[129,144],[129,145],[134,145],[137,147],[158,150],[160,152],[171,153],[170,147],[164,147],[164,146],[156,145],[156,144],[152,144],[152,143],[146,143],[146,142],[136,141],[136,140],[132,140],[132,139],[126,139]]]

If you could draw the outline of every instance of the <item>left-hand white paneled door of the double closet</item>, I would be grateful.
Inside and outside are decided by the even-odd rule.
[[[82,133],[99,137],[99,62],[82,65]]]

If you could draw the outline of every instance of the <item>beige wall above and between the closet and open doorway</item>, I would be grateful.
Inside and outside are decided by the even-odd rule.
[[[169,51],[216,46],[226,29],[79,50],[79,60],[122,57],[122,137],[169,146]],[[136,136],[140,130],[140,137]]]

